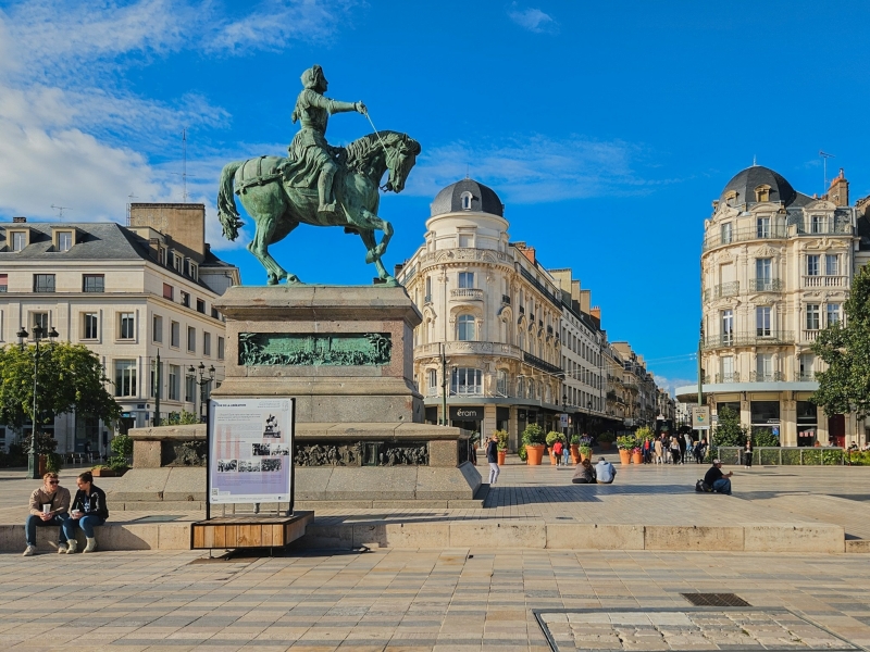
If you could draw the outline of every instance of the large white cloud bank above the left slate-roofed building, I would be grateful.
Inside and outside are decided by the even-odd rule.
[[[54,203],[72,206],[64,218],[123,222],[130,193],[181,200],[182,128],[208,129],[229,115],[196,95],[132,93],[127,71],[185,49],[236,55],[324,39],[352,4],[265,0],[234,4],[232,17],[211,0],[27,0],[0,10],[0,212],[52,218]],[[177,156],[153,163],[167,151]],[[237,247],[220,236],[212,195],[222,165],[240,156],[200,153],[188,162],[189,200],[207,204],[215,248]]]

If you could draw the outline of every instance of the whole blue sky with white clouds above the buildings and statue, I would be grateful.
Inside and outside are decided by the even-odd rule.
[[[0,218],[124,221],[134,201],[208,206],[228,161],[281,154],[299,75],[364,101],[423,153],[385,197],[391,269],[422,240],[428,204],[465,172],[506,203],[514,240],[573,267],[611,340],[668,386],[695,377],[700,238],[710,202],[753,163],[823,191],[819,150],[870,193],[870,4],[806,1],[0,2]],[[330,140],[371,131],[332,118]],[[300,227],[273,249],[311,283],[368,284],[360,240]]]

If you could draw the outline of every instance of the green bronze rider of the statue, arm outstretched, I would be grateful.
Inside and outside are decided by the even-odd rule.
[[[302,73],[304,90],[296,99],[290,120],[301,121],[301,128],[288,148],[289,160],[281,165],[288,186],[312,188],[316,183],[320,213],[334,213],[333,177],[338,172],[336,154],[340,148],[326,142],[326,123],[333,113],[357,111],[365,114],[362,102],[338,102],[323,97],[328,82],[323,68],[314,65]]]

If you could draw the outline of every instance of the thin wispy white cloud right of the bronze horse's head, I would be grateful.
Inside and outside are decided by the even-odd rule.
[[[643,149],[621,140],[580,136],[554,140],[532,134],[499,143],[453,142],[423,151],[406,190],[434,197],[469,174],[517,203],[646,192],[654,185],[633,170]]]

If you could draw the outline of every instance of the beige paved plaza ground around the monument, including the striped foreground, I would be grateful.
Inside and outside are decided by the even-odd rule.
[[[703,469],[629,466],[612,486],[584,487],[570,484],[568,469],[509,464],[483,510],[322,510],[318,522],[667,524],[780,514],[870,535],[870,468],[738,467],[731,498],[696,496]],[[62,474],[65,485],[74,474]],[[38,484],[22,475],[0,475],[2,523],[22,519]],[[100,485],[111,490],[112,481]],[[854,650],[870,647],[869,559],[505,549],[485,537],[228,561],[191,551],[16,550],[0,554],[0,641],[9,650]],[[699,607],[683,595],[697,593],[732,593],[748,606]]]

